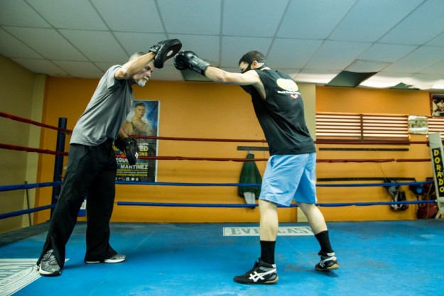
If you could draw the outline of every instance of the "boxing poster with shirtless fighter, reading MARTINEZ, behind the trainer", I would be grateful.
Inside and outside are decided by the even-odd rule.
[[[116,180],[129,182],[156,182],[157,160],[144,159],[156,156],[158,140],[144,138],[158,136],[158,118],[160,102],[134,100],[131,111],[121,128],[139,146],[139,158],[136,165],[129,165],[123,152],[114,147],[117,160]]]

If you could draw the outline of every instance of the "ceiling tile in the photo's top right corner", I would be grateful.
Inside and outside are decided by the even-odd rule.
[[[380,42],[423,45],[444,31],[442,0],[424,1]]]

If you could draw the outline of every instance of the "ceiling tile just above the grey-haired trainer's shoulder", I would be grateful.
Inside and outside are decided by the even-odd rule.
[[[129,55],[114,36],[104,31],[60,30],[62,35],[92,62],[125,62]],[[113,50],[109,50],[112,48]]]

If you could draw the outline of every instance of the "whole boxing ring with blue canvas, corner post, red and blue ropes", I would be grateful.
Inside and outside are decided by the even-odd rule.
[[[36,121],[23,119],[0,112],[0,116],[26,124],[57,131],[55,150],[13,146],[0,143],[1,149],[41,153],[55,157],[53,180],[31,184],[1,185],[0,192],[52,188],[52,202],[29,209],[13,212],[0,212],[1,219],[21,216],[53,209],[60,187],[63,184],[63,158],[65,136],[70,134],[66,120],[60,119],[59,126],[48,126]],[[263,140],[217,139],[217,138],[172,138],[141,137],[157,141],[193,142],[233,142],[264,143]],[[345,145],[355,145],[352,141]],[[337,144],[322,143],[317,144]],[[362,143],[361,143],[362,144]],[[390,145],[389,142],[366,143],[366,145]],[[424,145],[426,142],[413,142]],[[397,144],[399,145],[399,143]],[[251,148],[251,147],[250,147]],[[321,153],[318,153],[320,155]],[[140,159],[157,161],[205,161],[266,162],[267,158],[209,158],[183,156],[141,156]],[[325,159],[317,163],[431,163],[431,158],[379,158],[379,159]],[[432,165],[432,164],[431,164]],[[210,169],[209,169],[210,170]],[[364,178],[362,178],[364,179]],[[371,179],[371,178],[370,178]],[[377,178],[378,179],[378,178]],[[372,179],[374,181],[374,179]],[[371,181],[372,181],[371,180]],[[335,182],[336,181],[336,182]],[[352,181],[352,182],[349,182]],[[318,188],[358,188],[370,187],[432,187],[433,180],[417,182],[360,182],[357,178],[318,178]],[[344,183],[347,182],[347,183]],[[260,187],[256,183],[240,182],[126,182],[116,181],[118,187]],[[367,202],[323,202],[319,197],[319,207],[339,210],[344,207],[401,207],[411,205],[437,204],[437,199],[418,199]],[[387,199],[389,194],[387,194]],[[232,203],[218,202],[161,202],[122,200],[117,194],[115,205],[118,208],[245,208],[246,211],[259,211],[257,203],[247,204],[244,199]],[[291,204],[290,208],[297,207]],[[437,205],[438,207],[438,205]],[[323,210],[323,209],[321,209]],[[436,214],[436,218],[438,218]],[[258,220],[259,221],[259,220]],[[113,246],[125,253],[128,260],[116,265],[83,265],[85,229],[84,221],[79,221],[67,244],[68,262],[65,272],[59,278],[41,278],[33,270],[36,257],[45,241],[48,222],[29,226],[25,229],[0,234],[0,266],[13,265],[19,271],[10,276],[7,268],[0,270],[0,295],[51,295],[60,286],[67,295],[426,295],[437,293],[438,281],[444,280],[442,266],[435,254],[444,247],[442,219],[410,219],[401,221],[327,221],[330,237],[335,246],[341,269],[330,273],[313,270],[316,256],[315,239],[308,224],[303,220],[285,221],[280,224],[279,239],[276,244],[276,259],[280,281],[273,286],[244,286],[232,282],[232,276],[242,273],[259,254],[258,222],[227,221],[223,223],[139,223],[112,222]],[[31,269],[30,269],[31,268]],[[6,270],[6,271],[4,271]],[[57,283],[55,283],[57,281]],[[14,290],[14,287],[20,288]]]

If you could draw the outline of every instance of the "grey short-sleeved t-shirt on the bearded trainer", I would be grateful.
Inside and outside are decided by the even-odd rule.
[[[98,146],[108,138],[117,138],[134,99],[128,82],[114,77],[120,67],[114,65],[103,75],[90,103],[75,124],[70,143]]]

